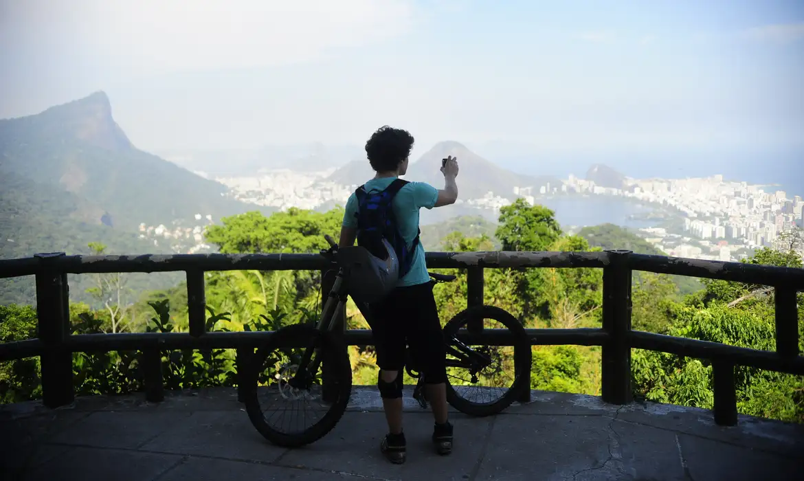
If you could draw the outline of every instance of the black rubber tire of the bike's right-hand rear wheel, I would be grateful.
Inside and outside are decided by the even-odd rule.
[[[530,340],[527,339],[527,333],[522,323],[519,323],[519,320],[507,310],[500,309],[496,306],[475,306],[461,310],[461,312],[457,313],[453,319],[449,319],[449,322],[445,324],[443,329],[445,338],[454,335],[462,325],[466,324],[474,317],[498,321],[514,334],[515,339],[517,339],[514,345],[514,365],[515,372],[519,372],[519,375],[515,375],[514,382],[511,384],[511,387],[509,387],[507,393],[503,394],[503,397],[488,404],[475,403],[460,397],[453,388],[453,385],[449,383],[448,378],[446,383],[447,402],[461,413],[470,416],[492,416],[510,406],[523,389],[531,389],[531,343]]]

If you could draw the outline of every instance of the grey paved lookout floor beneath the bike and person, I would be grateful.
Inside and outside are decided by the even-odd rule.
[[[373,387],[318,442],[287,450],[251,426],[235,389],[81,397],[64,408],[0,406],[0,479],[215,481],[261,479],[759,480],[804,479],[804,426],[675,405],[605,405],[600,398],[534,392],[496,417],[453,413],[453,454],[429,444],[433,420],[406,389],[408,462],[379,453],[385,423]]]

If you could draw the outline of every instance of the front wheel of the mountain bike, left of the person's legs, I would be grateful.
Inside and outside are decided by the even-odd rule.
[[[303,372],[297,387],[289,381],[298,371],[298,363],[305,350],[314,345],[320,362],[316,372],[310,372],[311,362]],[[332,373],[331,400],[322,399],[322,368]],[[349,404],[351,394],[351,364],[343,343],[329,332],[318,331],[307,324],[282,327],[273,334],[265,346],[260,347],[246,374],[248,392],[245,397],[246,413],[252,425],[273,444],[297,447],[318,441],[338,424]],[[282,405],[285,405],[284,409]],[[287,405],[292,405],[288,409]],[[277,414],[287,412],[314,418],[311,426],[300,425],[299,420],[271,421]]]

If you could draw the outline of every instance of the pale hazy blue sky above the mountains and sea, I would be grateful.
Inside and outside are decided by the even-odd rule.
[[[146,150],[802,147],[804,2],[0,0],[0,117],[104,90]]]

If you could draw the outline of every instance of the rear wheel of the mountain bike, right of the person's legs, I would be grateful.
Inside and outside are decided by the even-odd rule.
[[[471,416],[490,416],[506,409],[523,389],[531,386],[531,343],[524,327],[507,310],[495,306],[477,306],[461,310],[444,327],[447,343],[458,351],[453,336],[466,332],[470,321],[482,323],[483,329],[505,329],[513,346],[484,346],[467,343],[489,362],[483,366],[449,366],[457,358],[447,354],[447,402]],[[470,395],[474,394],[472,397]],[[498,394],[498,397],[494,397]],[[479,399],[478,399],[479,398]]]

